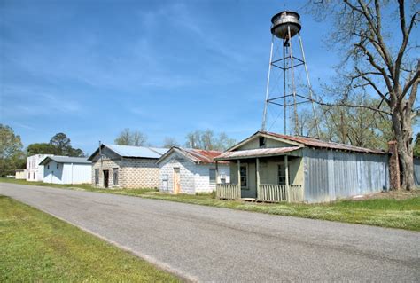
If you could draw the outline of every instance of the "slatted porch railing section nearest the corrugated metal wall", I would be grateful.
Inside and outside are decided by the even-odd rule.
[[[257,191],[257,200],[268,202],[303,201],[302,185],[261,184]]]

